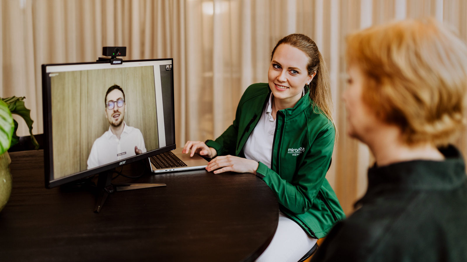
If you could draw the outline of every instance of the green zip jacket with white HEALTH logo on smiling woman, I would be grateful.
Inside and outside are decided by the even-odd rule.
[[[249,86],[240,99],[233,124],[215,141],[206,141],[206,145],[218,155],[245,157],[243,146],[261,118],[269,93],[267,83]],[[256,171],[276,194],[283,214],[314,238],[324,237],[337,221],[345,218],[325,179],[335,129],[327,117],[316,113],[318,110],[306,92],[294,108],[277,111],[271,169],[259,162]]]

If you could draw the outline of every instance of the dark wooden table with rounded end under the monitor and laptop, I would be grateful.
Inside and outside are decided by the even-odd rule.
[[[130,181],[167,186],[113,193],[94,214],[94,194],[44,188],[42,150],[10,157],[0,261],[253,261],[276,231],[276,197],[252,174],[146,171]]]

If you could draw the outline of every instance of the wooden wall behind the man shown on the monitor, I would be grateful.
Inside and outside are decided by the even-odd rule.
[[[148,151],[159,147],[152,66],[60,72],[51,77],[54,179],[86,170],[94,140],[109,129],[104,98],[114,84],[125,92],[125,123]]]

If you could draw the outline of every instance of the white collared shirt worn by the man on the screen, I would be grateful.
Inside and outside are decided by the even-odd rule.
[[[109,127],[108,131],[94,141],[88,157],[87,169],[135,156],[135,145],[143,153],[146,152],[141,131],[128,126],[125,122],[123,124],[124,127],[120,139],[112,133]]]

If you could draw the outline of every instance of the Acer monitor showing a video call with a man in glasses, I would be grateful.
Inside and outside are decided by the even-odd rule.
[[[45,186],[175,149],[172,65],[42,65]]]

